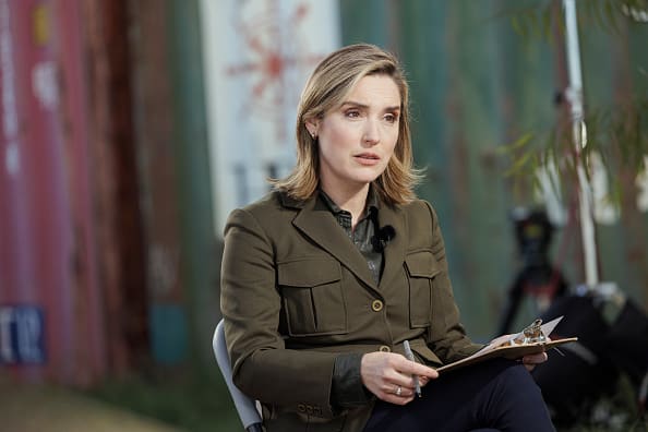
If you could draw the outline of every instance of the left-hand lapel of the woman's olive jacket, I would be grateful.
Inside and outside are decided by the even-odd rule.
[[[301,207],[292,225],[307,237],[335,256],[367,285],[376,289],[367,261],[353,247],[345,231],[337,225],[335,217],[323,203],[312,197],[303,203],[295,202],[284,195],[284,205]]]

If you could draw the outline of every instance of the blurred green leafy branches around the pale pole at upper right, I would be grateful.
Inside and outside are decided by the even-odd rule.
[[[636,25],[647,25],[648,0],[588,0],[577,1],[579,11],[579,27],[599,29],[616,38],[626,37],[624,28]],[[527,44],[532,40],[543,40],[557,49],[557,44],[564,44],[564,11],[562,1],[541,0],[527,2],[515,10],[507,10],[513,28]],[[584,34],[584,32],[581,32]],[[584,52],[583,56],[587,56]],[[554,124],[543,129],[523,131],[512,143],[499,148],[501,154],[511,157],[507,176],[524,179],[538,184],[538,170],[548,166],[555,166],[557,179],[553,187],[556,192],[564,193],[565,188],[577,182],[576,169],[584,168],[587,176],[591,175],[591,159],[596,157],[602,164],[602,169],[609,179],[609,200],[619,203],[623,188],[621,179],[633,177],[646,170],[648,158],[648,73],[637,67],[634,70],[635,91],[625,99],[614,100],[610,105],[593,106],[587,104],[584,128],[580,137],[584,147],[577,147],[567,110],[556,118]],[[585,71],[587,73],[587,71]],[[556,95],[556,104],[568,103],[565,92]],[[591,181],[591,178],[588,177]],[[561,187],[562,185],[562,187]],[[562,189],[562,191],[559,191]]]

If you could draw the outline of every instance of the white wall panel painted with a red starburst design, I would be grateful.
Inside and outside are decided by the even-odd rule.
[[[334,0],[201,2],[216,235],[290,172],[299,95],[339,46],[338,16]]]

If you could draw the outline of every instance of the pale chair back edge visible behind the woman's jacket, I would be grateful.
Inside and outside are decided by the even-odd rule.
[[[213,345],[216,362],[218,362],[218,368],[220,368],[220,373],[223,373],[223,377],[225,379],[225,383],[227,384],[227,388],[229,389],[229,394],[231,395],[245,431],[263,432],[263,419],[256,407],[256,401],[245,396],[231,381],[231,363],[225,345],[223,320],[216,325]]]

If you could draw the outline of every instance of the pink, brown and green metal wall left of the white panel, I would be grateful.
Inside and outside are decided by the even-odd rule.
[[[197,1],[0,7],[0,368],[86,386],[212,365]]]

